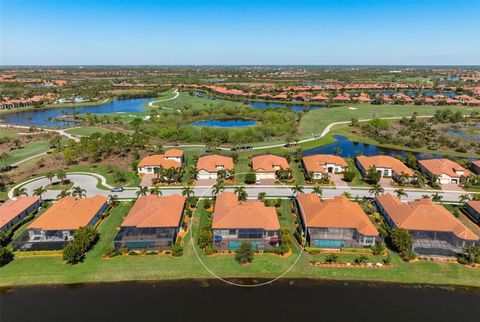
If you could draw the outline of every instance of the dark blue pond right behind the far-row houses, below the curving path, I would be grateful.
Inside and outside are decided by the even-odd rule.
[[[354,156],[357,156],[359,152],[361,152],[361,154],[365,156],[384,154],[384,155],[390,155],[393,157],[396,157],[396,156],[401,156],[403,158],[406,157],[406,152],[402,150],[384,148],[384,147],[380,147],[372,144],[352,142],[346,137],[341,135],[334,135],[333,137],[337,140],[336,142],[305,150],[303,151],[303,155],[335,154],[334,150],[336,148],[339,148],[341,150],[339,155],[344,158],[352,158]],[[413,152],[413,155],[419,160],[443,158],[443,155],[435,154],[435,153]]]

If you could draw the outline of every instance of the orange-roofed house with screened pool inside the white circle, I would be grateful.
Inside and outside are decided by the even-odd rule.
[[[214,247],[237,250],[242,242],[253,249],[265,249],[280,243],[280,222],[274,207],[258,200],[239,201],[233,192],[216,198],[212,219]]]

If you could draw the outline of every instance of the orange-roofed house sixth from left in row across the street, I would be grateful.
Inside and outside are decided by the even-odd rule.
[[[449,159],[420,160],[418,166],[428,178],[437,176],[440,184],[460,184],[471,175],[470,171]]]

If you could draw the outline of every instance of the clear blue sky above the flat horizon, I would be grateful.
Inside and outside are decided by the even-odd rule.
[[[0,0],[0,65],[480,65],[480,0]]]

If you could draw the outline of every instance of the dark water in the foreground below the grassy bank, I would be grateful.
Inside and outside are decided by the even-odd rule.
[[[281,280],[258,288],[219,281],[16,288],[1,321],[478,321],[480,291]]]

